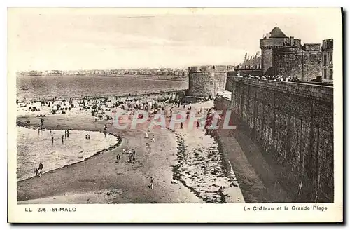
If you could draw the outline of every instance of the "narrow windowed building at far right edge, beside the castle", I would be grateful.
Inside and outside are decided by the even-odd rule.
[[[322,82],[333,83],[333,39],[322,41]]]

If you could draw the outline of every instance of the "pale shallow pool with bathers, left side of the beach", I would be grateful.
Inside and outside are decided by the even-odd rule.
[[[87,140],[85,135],[90,135]],[[64,165],[83,161],[117,144],[113,135],[93,131],[69,130],[69,137],[64,138],[64,130],[35,130],[17,127],[17,180],[34,177],[34,170],[43,163],[43,172],[48,172]],[[52,144],[51,137],[54,137]]]

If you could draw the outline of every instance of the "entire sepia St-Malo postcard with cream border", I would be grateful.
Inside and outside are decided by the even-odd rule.
[[[8,8],[9,202],[342,220],[342,46],[341,8]]]

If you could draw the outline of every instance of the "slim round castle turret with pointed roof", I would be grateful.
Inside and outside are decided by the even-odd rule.
[[[274,73],[272,69],[272,50],[282,47],[286,38],[286,34],[279,27],[274,27],[269,34],[260,39],[262,75],[272,75]]]

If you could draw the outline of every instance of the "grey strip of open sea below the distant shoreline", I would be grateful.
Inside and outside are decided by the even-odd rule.
[[[145,79],[141,76],[18,76],[17,99],[78,99],[183,90],[188,81]]]

